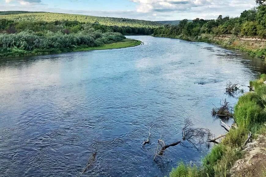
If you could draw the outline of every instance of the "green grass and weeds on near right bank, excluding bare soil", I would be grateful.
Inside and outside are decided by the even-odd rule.
[[[230,169],[235,161],[242,158],[244,152],[242,145],[252,132],[252,139],[258,134],[266,131],[266,85],[263,81],[266,75],[262,74],[260,79],[251,81],[250,86],[255,92],[248,92],[241,96],[235,106],[234,119],[237,128],[231,128],[221,143],[215,145],[211,152],[203,158],[202,165],[190,166],[179,164],[169,174],[170,177],[227,177],[231,176]],[[264,174],[258,174],[263,176]],[[249,173],[242,174],[248,177]]]

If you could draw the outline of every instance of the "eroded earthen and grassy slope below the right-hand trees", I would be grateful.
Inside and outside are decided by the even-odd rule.
[[[165,37],[183,39],[188,41],[196,42],[210,42],[221,45],[222,47],[238,49],[249,53],[251,56],[257,56],[265,59],[266,56],[266,39],[260,39],[256,37],[237,37],[234,35],[212,35],[212,34],[201,34],[197,37],[190,36],[155,36],[153,37]]]

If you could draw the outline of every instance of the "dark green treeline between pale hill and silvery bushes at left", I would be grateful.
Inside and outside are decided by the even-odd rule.
[[[78,33],[79,31],[94,31],[101,32],[117,32],[123,35],[150,35],[153,34],[153,28],[145,27],[130,27],[130,26],[106,26],[98,22],[83,23],[79,21],[55,20],[53,22],[46,21],[14,21],[0,19],[0,33],[13,34],[21,31],[31,30],[34,32],[45,33],[45,31],[58,32],[63,34]],[[88,31],[88,32],[90,32]]]

